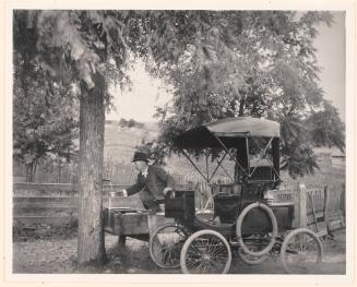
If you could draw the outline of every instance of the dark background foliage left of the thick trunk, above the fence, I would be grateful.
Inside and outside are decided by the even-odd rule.
[[[74,110],[78,103],[73,98],[56,95],[64,94],[61,91],[56,91],[51,96],[40,96],[40,91],[36,86],[31,91],[37,93],[36,97],[14,94],[15,157],[25,159],[29,155],[39,159],[52,153],[69,160],[74,153],[72,140],[78,127]]]

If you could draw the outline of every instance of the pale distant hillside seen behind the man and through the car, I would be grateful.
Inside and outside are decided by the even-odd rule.
[[[105,125],[105,147],[104,155],[105,162],[107,163],[108,168],[119,168],[122,169],[122,172],[115,172],[116,177],[126,178],[124,182],[133,182],[135,177],[135,171],[131,165],[131,159],[135,151],[135,146],[141,144],[142,139],[153,139],[159,132],[159,127],[156,122],[143,122],[144,125],[142,128],[120,128],[117,123],[107,123]],[[331,155],[335,153],[333,148],[317,148],[317,156],[319,158],[319,165],[321,167],[317,172],[322,172],[323,175],[323,184],[326,184],[331,175],[338,175],[341,181],[344,179],[344,166],[334,168],[331,166]],[[209,174],[216,167],[216,162],[212,162],[210,158],[206,162],[205,158],[200,158],[198,162],[192,158],[192,160],[199,166],[200,170],[206,175],[206,164],[209,165]],[[109,165],[108,165],[109,163]],[[202,176],[194,169],[194,167],[189,163],[185,156],[171,155],[166,158],[167,165],[165,169],[168,170],[171,175],[174,175],[177,179],[181,179],[182,181],[202,181]],[[233,175],[234,163],[228,159],[228,156],[224,160],[225,169]],[[332,174],[330,174],[332,172]],[[109,170],[110,174],[110,170]],[[217,177],[228,179],[226,172],[218,168]],[[284,181],[290,181],[289,177],[285,172],[282,172],[282,177]],[[334,178],[334,177],[332,177]],[[300,178],[299,180],[310,183],[318,182],[316,175],[307,176],[305,178]],[[322,179],[321,179],[322,180]],[[122,182],[122,180],[118,180]],[[311,183],[311,184],[312,184]]]

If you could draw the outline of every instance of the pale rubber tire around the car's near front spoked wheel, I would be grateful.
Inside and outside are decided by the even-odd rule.
[[[200,236],[202,235],[211,235],[211,236],[215,236],[218,237],[223,243],[225,244],[226,249],[227,249],[227,253],[228,253],[228,260],[226,263],[225,268],[223,270],[222,274],[226,274],[229,271],[230,267],[230,263],[231,263],[231,251],[230,251],[230,247],[227,242],[227,240],[224,238],[223,235],[218,234],[217,231],[211,230],[211,229],[204,229],[204,230],[200,230],[194,232],[193,235],[191,235],[185,242],[182,250],[181,250],[181,256],[180,256],[180,265],[181,265],[181,271],[183,274],[190,274],[190,272],[188,271],[187,266],[186,266],[186,254],[188,252],[189,247],[191,246],[191,243]]]

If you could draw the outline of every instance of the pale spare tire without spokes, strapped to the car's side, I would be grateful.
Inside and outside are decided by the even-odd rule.
[[[269,216],[269,218],[271,219],[272,226],[273,226],[273,231],[272,231],[272,240],[271,242],[267,244],[267,247],[265,247],[263,250],[254,252],[249,250],[245,242],[243,239],[241,237],[241,226],[243,223],[243,219],[246,217],[246,215],[253,208],[262,208]],[[237,239],[239,242],[239,247],[242,249],[242,251],[249,255],[253,255],[253,256],[262,256],[269,253],[269,251],[271,251],[271,249],[273,248],[274,243],[275,243],[275,239],[277,237],[277,222],[275,218],[275,215],[272,211],[272,208],[270,208],[267,205],[260,203],[260,202],[254,202],[249,204],[248,206],[245,207],[245,210],[239,214],[238,219],[237,219],[237,225],[236,225],[236,235],[237,235]]]

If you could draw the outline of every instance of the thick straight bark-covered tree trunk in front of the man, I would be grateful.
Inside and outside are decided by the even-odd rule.
[[[93,76],[95,87],[81,87],[79,165],[80,266],[102,265],[106,259],[102,220],[102,178],[104,154],[105,79]]]

